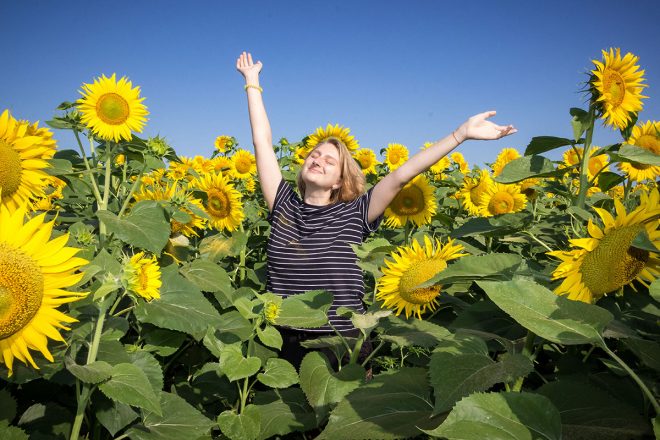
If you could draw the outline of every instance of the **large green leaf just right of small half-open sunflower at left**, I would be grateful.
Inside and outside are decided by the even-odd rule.
[[[140,301],[135,316],[141,322],[187,333],[200,340],[208,326],[218,326],[220,315],[204,295],[179,275],[176,265],[161,270],[160,299]]]

